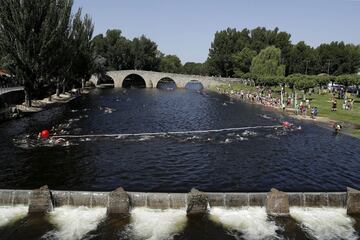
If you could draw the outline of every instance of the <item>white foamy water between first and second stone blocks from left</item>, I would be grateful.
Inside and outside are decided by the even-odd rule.
[[[54,232],[57,239],[76,240],[95,230],[105,216],[106,208],[65,206],[50,213],[50,222],[57,228]]]

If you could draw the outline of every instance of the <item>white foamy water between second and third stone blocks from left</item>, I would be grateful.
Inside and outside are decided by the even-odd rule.
[[[141,240],[171,238],[185,228],[186,221],[185,209],[135,208],[131,211],[131,228],[136,239]]]

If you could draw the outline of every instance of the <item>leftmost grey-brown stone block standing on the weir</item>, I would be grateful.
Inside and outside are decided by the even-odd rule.
[[[30,195],[29,213],[46,214],[54,209],[51,192],[48,186],[32,191]]]

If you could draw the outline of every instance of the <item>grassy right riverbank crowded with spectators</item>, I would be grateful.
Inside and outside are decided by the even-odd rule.
[[[286,114],[289,117],[310,121],[321,126],[333,128],[335,123],[340,123],[343,127],[343,133],[360,138],[360,111],[358,108],[353,110],[338,109],[336,112],[330,111],[330,94],[312,94],[308,97],[311,106],[318,108],[318,116],[311,117],[311,109],[307,108],[305,114],[299,114],[298,109],[280,104],[280,94],[276,90],[270,90],[267,94],[259,94],[259,88],[243,84],[229,84],[213,89],[220,94],[229,96],[232,99],[246,101],[251,104],[260,105],[277,112]],[[300,102],[301,100],[298,100]],[[338,106],[343,105],[343,100],[338,100]],[[358,102],[358,101],[355,101]]]

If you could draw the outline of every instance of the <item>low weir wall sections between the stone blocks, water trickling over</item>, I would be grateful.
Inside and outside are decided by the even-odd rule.
[[[38,190],[0,190],[0,205],[16,206],[34,204],[33,193]],[[50,190],[49,190],[50,191]],[[275,190],[277,191],[277,190]],[[109,207],[111,192],[50,191],[54,208],[62,206],[85,206],[89,208]],[[124,192],[129,199],[129,208],[184,209],[191,201],[191,193],[146,193]],[[267,207],[272,198],[269,193],[203,193],[208,206],[224,208]],[[283,193],[283,192],[279,192]],[[275,192],[275,199],[276,199]],[[360,213],[360,192],[348,188],[348,192],[289,192],[288,207],[333,207],[349,208],[352,213]],[[350,195],[349,195],[350,194]],[[349,199],[348,196],[351,196]],[[38,197],[38,196],[37,196]],[[348,209],[349,210],[349,209]]]

